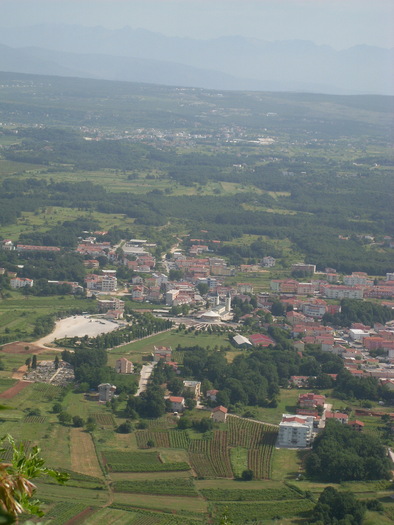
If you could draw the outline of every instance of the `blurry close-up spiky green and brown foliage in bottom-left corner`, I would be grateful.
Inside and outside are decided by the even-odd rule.
[[[10,462],[0,463],[1,523],[13,523],[22,513],[43,516],[40,501],[33,500],[37,487],[31,480],[50,476],[64,484],[69,478],[68,474],[45,467],[38,447],[33,447],[27,454],[23,444],[18,447],[11,436],[6,436],[3,441],[11,447],[12,459]]]

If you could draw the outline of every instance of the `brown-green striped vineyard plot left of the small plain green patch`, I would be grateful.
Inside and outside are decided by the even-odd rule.
[[[191,440],[189,451],[190,461],[199,477],[233,477],[226,431],[215,430],[212,439]]]

